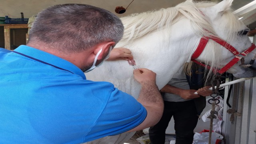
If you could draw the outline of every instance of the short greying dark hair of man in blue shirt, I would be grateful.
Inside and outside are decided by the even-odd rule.
[[[42,10],[30,29],[29,41],[50,48],[81,52],[100,42],[119,42],[121,20],[102,8],[86,4],[59,4]]]

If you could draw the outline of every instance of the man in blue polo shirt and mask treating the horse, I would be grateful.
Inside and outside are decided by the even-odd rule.
[[[0,143],[78,144],[156,124],[163,100],[154,72],[134,70],[138,101],[84,75],[106,59],[123,29],[102,8],[56,5],[38,14],[26,46],[1,48]]]

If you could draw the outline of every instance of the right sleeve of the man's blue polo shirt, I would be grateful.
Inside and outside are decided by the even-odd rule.
[[[141,124],[146,115],[146,108],[134,97],[114,88],[94,129],[104,130],[108,136],[121,134]]]

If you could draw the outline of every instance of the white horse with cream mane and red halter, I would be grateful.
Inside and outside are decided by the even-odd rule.
[[[249,48],[248,51],[252,51],[244,58],[245,63],[249,63],[256,50],[247,36],[249,29],[230,10],[232,1],[223,0],[214,4],[187,0],[172,8],[123,17],[121,20],[125,27],[124,36],[116,47],[129,48],[137,68],[148,68],[156,72],[159,89],[170,81],[184,63],[190,62],[191,57],[212,68],[224,67],[222,71],[227,70],[237,78],[254,77],[254,70],[241,67],[237,63],[240,56],[244,57],[248,53],[244,50]],[[201,40],[203,36],[210,37],[210,40],[205,43],[202,53],[198,53],[198,45],[203,45],[201,41],[207,39]],[[217,42],[224,44],[218,44],[212,40],[215,37],[228,44],[219,39]],[[193,55],[195,51],[198,56]],[[245,54],[239,54],[241,52]],[[230,61],[234,62],[230,65]],[[256,68],[256,64],[252,67]],[[86,73],[86,78],[112,82],[118,89],[138,98],[140,84],[134,80],[133,70],[127,61],[106,61],[99,68]],[[133,134],[108,136],[88,144],[123,144]]]

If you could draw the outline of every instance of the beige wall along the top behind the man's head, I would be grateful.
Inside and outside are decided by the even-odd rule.
[[[117,16],[126,16],[132,13],[145,12],[159,8],[173,7],[185,0],[0,0],[0,16],[9,16],[10,18],[20,18],[20,12],[24,13],[24,18],[30,18],[32,15],[38,14],[44,8],[55,4],[90,4],[115,13],[116,6],[126,8],[124,14],[116,14]]]

